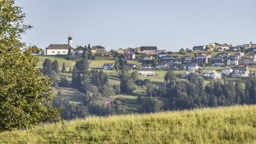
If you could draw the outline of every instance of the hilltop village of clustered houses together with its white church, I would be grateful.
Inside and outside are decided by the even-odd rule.
[[[76,46],[74,49],[72,37],[69,36],[67,44],[50,44],[46,48],[46,55],[67,55],[68,51],[71,51],[74,57],[81,57],[84,49],[85,47],[82,46]],[[97,56],[119,55],[124,59],[143,61],[144,63],[140,66],[128,64],[130,69],[138,70],[143,76],[154,76],[154,70],[186,71],[182,76],[188,76],[189,73],[197,72],[200,78],[204,76],[221,78],[223,74],[232,77],[247,77],[250,74],[255,74],[248,70],[248,65],[256,63],[256,44],[252,44],[252,42],[237,46],[214,42],[205,46],[195,46],[192,49],[180,49],[180,53],[198,51],[197,53],[184,56],[172,55],[173,52],[158,49],[154,46],[142,46],[134,49],[119,48],[116,50],[111,49],[110,51],[106,51],[106,48],[102,46],[93,46],[89,47],[89,51],[92,55]],[[213,53],[216,55],[213,55]],[[208,70],[207,73],[202,74],[202,67],[204,66],[221,66],[223,68],[221,72]],[[228,68],[228,66],[231,67]],[[115,63],[106,63],[101,68],[104,70],[114,70]]]

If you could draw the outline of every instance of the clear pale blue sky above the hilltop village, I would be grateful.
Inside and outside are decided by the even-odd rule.
[[[16,0],[33,28],[27,45],[156,46],[178,51],[213,42],[256,43],[256,0]]]

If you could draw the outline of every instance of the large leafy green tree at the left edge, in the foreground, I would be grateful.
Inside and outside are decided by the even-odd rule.
[[[44,122],[60,121],[59,110],[52,107],[50,79],[35,68],[37,48],[20,48],[21,35],[31,28],[24,25],[22,8],[14,0],[1,0],[0,6],[0,131],[30,128]]]

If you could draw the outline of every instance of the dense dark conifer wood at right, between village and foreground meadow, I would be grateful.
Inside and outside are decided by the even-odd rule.
[[[235,104],[256,104],[256,77],[236,82],[224,79],[210,80],[204,86],[203,80],[191,73],[186,80],[177,80],[172,71],[165,75],[165,82],[158,89],[153,85],[147,87],[149,96],[169,97],[169,109],[190,109]]]

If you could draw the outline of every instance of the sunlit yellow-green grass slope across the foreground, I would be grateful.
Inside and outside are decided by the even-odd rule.
[[[90,117],[0,133],[0,143],[255,143],[256,106]]]

